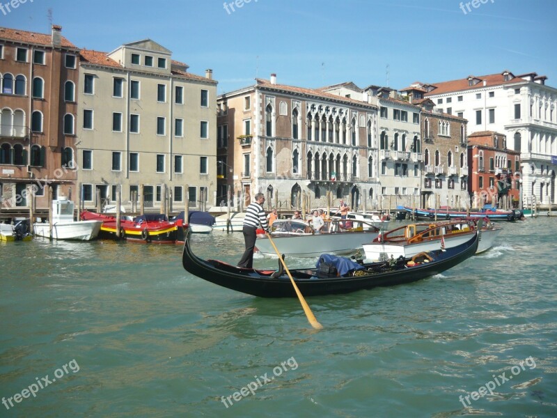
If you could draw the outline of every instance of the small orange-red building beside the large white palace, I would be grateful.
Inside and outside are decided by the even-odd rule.
[[[480,131],[468,137],[469,192],[474,207],[497,203],[518,206],[521,192],[520,152],[507,148],[504,134]]]

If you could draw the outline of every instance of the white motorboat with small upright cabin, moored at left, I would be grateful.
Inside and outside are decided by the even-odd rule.
[[[33,224],[33,233],[53,240],[94,240],[99,235],[102,221],[74,220],[74,202],[64,196],[52,201],[51,223]]]

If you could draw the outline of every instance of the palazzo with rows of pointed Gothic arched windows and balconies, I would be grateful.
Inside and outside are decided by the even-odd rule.
[[[331,192],[352,208],[370,208],[377,193],[375,105],[277,84],[272,75],[220,95],[218,107],[219,203],[230,187],[240,196],[236,206],[257,192],[283,210],[301,207],[302,192],[311,207],[327,206]]]

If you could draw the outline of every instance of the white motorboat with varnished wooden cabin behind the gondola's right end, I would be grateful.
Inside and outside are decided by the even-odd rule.
[[[363,245],[366,261],[384,261],[390,258],[411,257],[424,251],[449,249],[469,240],[480,229],[482,232],[476,253],[492,247],[495,238],[501,233],[489,219],[461,219],[453,221],[423,222],[400,226],[381,233],[370,244]]]

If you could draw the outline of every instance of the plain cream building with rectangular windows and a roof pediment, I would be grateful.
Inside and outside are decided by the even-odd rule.
[[[217,82],[211,70],[201,77],[187,68],[149,39],[110,53],[81,51],[78,174],[86,208],[116,203],[118,191],[128,209],[158,209],[166,199],[171,210],[187,199],[192,208],[214,205]]]

